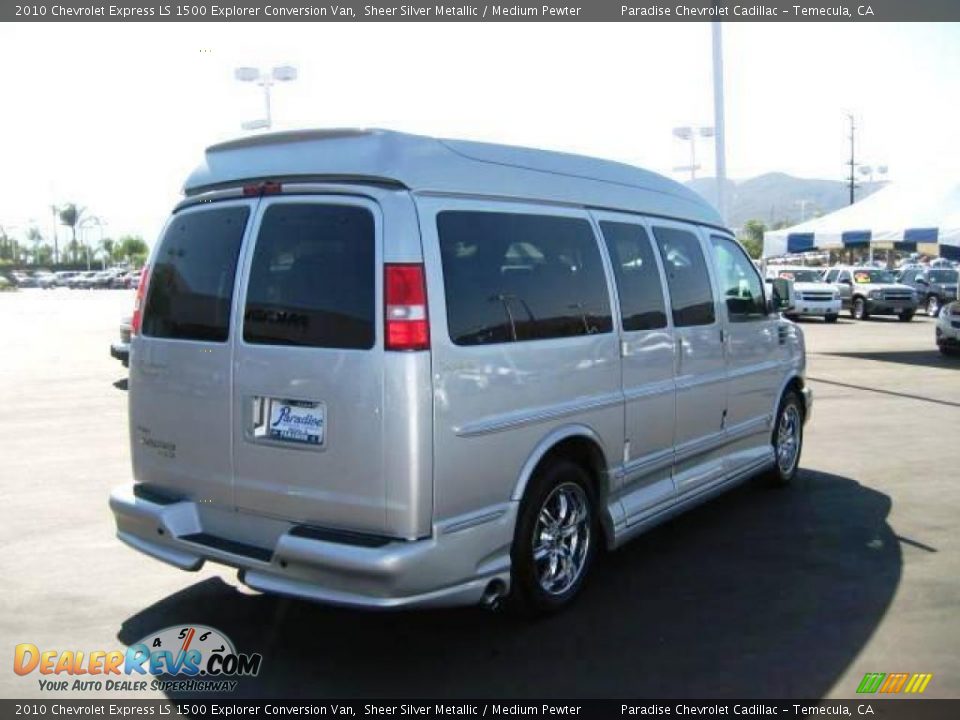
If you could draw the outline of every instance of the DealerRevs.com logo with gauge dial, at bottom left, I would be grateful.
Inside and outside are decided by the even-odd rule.
[[[37,674],[41,690],[231,692],[242,677],[260,672],[260,653],[237,652],[206,625],[178,625],[151,633],[126,650],[14,649],[13,671]]]

